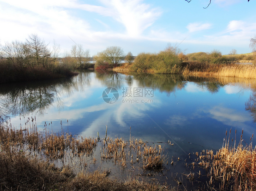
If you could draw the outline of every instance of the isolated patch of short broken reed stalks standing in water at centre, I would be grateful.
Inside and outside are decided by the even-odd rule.
[[[148,146],[141,139],[130,139],[124,141],[123,138],[102,142],[101,158],[103,160],[113,160],[122,167],[127,167],[129,162],[141,163],[143,170],[161,171],[164,168],[166,156],[162,155],[163,148],[161,145],[155,147]]]

